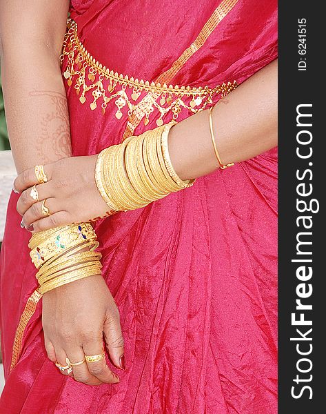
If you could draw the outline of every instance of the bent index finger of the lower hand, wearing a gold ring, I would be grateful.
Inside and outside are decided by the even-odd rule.
[[[85,355],[100,355],[103,353],[103,345],[102,341],[99,340],[98,342],[84,342],[83,343],[83,352]],[[101,382],[105,382],[107,384],[116,384],[120,382],[118,375],[113,373],[108,364],[106,362],[105,357],[96,362],[86,362],[88,365],[88,371],[94,377],[98,378]]]

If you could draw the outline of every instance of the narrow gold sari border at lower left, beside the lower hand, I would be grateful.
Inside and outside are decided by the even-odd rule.
[[[17,364],[19,357],[21,356],[21,348],[23,345],[23,334],[25,332],[26,326],[28,322],[30,322],[30,318],[34,315],[36,311],[37,304],[39,303],[39,299],[41,299],[42,295],[39,293],[39,290],[34,290],[32,295],[28,298],[26,302],[26,306],[21,314],[19,319],[19,324],[17,326],[16,334],[14,335],[14,345],[12,347],[12,357],[10,363],[10,371],[14,366]]]

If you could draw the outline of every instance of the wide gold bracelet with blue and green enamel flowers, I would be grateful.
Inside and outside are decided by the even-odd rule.
[[[56,232],[48,239],[44,239],[39,246],[30,251],[30,257],[35,267],[39,268],[48,259],[62,253],[63,250],[94,239],[96,239],[96,234],[90,224],[81,223],[69,226],[62,232]]]

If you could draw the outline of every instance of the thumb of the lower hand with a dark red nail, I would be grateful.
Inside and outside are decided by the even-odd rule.
[[[108,315],[105,318],[103,333],[112,363],[117,368],[125,369],[124,342],[118,308],[116,315]]]

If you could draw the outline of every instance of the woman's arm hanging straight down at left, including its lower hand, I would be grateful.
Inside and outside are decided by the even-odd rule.
[[[1,77],[18,172],[71,156],[59,63],[68,4],[68,0],[46,4],[0,0]],[[71,326],[72,320],[79,324]],[[101,275],[45,293],[43,331],[48,356],[62,365],[67,356],[77,362],[84,353],[101,353],[104,332],[112,361],[119,366],[123,353],[119,313]],[[119,381],[104,360],[76,366],[73,375],[86,384]]]

